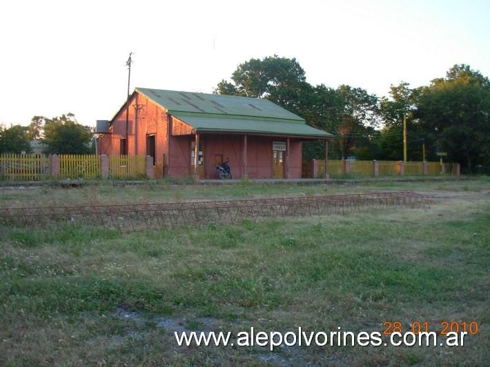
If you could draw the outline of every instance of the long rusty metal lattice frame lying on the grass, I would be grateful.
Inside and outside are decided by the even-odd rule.
[[[135,232],[186,225],[233,224],[243,219],[308,217],[380,210],[427,207],[431,197],[412,191],[348,195],[277,197],[153,204],[0,208],[0,226],[52,228],[66,225],[103,227]]]

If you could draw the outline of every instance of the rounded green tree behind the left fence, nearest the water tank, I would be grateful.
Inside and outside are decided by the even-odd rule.
[[[43,127],[43,143],[48,154],[89,154],[93,128],[80,125],[75,115],[68,113],[60,117],[46,119]]]

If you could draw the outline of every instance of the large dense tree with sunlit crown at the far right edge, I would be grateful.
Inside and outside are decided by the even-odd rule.
[[[446,77],[420,89],[415,117],[444,150],[467,170],[490,161],[490,81],[470,66],[455,65]]]

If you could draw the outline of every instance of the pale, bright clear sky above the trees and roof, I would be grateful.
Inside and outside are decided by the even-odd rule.
[[[295,58],[306,81],[389,95],[455,63],[490,77],[490,1],[4,1],[0,123],[95,126],[136,87],[213,92],[239,63]]]

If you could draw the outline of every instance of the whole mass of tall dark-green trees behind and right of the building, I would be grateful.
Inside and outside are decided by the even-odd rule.
[[[408,158],[427,158],[447,150],[450,161],[471,170],[490,161],[489,79],[467,65],[455,65],[446,77],[429,86],[392,85],[389,97],[378,99],[362,88],[324,84],[311,86],[296,59],[265,57],[241,63],[215,92],[266,98],[303,117],[315,127],[337,135],[334,158],[402,159],[402,121],[408,126]],[[380,130],[378,130],[380,129]],[[323,158],[321,142],[306,141],[303,159]]]

